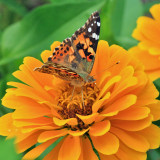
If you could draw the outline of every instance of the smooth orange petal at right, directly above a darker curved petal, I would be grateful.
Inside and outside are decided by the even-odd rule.
[[[148,117],[150,109],[147,107],[130,107],[113,116],[112,119],[140,120]]]

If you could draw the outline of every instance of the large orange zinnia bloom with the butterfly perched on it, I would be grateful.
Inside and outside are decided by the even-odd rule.
[[[58,45],[42,53],[44,62]],[[127,51],[99,42],[91,73],[96,84],[83,86],[84,106],[80,88],[72,97],[69,83],[33,71],[41,65],[26,57],[13,73],[24,83],[9,82],[15,88],[2,99],[15,110],[0,118],[0,134],[15,136],[18,152],[32,147],[24,160],[36,159],[60,137],[44,160],[98,160],[93,146],[101,160],[145,160],[148,149],[159,147],[160,129],[152,124],[160,118],[158,91]]]

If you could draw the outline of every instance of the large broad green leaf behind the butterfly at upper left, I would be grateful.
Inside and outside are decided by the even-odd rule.
[[[0,60],[0,65],[11,64],[12,61],[28,55],[39,57],[44,49],[49,49],[53,41],[62,41],[71,36],[103,4],[104,0],[36,8],[21,22],[6,29],[2,35],[4,58]]]

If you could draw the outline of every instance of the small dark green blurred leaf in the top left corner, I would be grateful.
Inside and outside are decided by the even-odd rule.
[[[26,8],[16,0],[0,0],[0,3],[6,5],[10,10],[24,16],[27,13]]]

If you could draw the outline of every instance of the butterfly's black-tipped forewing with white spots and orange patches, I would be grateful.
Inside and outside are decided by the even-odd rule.
[[[100,33],[100,17],[94,12],[85,25],[78,29],[71,37],[72,46],[75,50],[77,69],[90,73],[94,64],[97,44]],[[83,76],[83,75],[82,75]],[[84,79],[86,77],[83,77]]]

